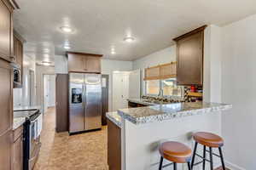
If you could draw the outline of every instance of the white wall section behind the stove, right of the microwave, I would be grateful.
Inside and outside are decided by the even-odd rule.
[[[30,105],[30,83],[29,83],[29,71],[35,71],[36,63],[35,59],[32,59],[24,54],[23,56],[23,86],[22,88],[14,88],[14,106],[28,106]],[[35,76],[34,76],[35,77]],[[34,81],[36,82],[36,81]],[[36,86],[35,84],[32,86],[32,90],[35,92]],[[34,93],[35,95],[35,93]],[[33,97],[33,99],[35,99]],[[32,99],[32,100],[33,100]],[[32,101],[32,105],[35,104]]]

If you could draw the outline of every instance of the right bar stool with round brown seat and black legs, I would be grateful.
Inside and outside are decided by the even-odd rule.
[[[220,157],[221,164],[222,164],[222,169],[225,170],[224,158],[223,158],[223,154],[222,154],[222,150],[221,150],[221,147],[224,145],[224,140],[220,136],[218,136],[217,134],[205,133],[205,132],[194,133],[193,138],[195,139],[195,148],[194,148],[194,153],[193,153],[192,162],[191,162],[191,164],[192,164],[191,169],[193,169],[193,167],[195,165],[203,163],[203,170],[205,170],[206,161],[209,161],[210,165],[211,165],[211,170],[213,170],[212,155],[214,155],[214,156],[218,156],[218,155],[212,153],[212,148],[218,148],[218,151],[219,151],[219,156],[218,157]],[[200,156],[196,153],[198,143],[202,144],[204,146],[203,156]],[[207,147],[209,147],[209,150],[207,150]],[[210,160],[206,159],[206,152],[210,153]],[[194,163],[195,156],[201,157],[201,159],[203,161],[199,161],[197,163]]]

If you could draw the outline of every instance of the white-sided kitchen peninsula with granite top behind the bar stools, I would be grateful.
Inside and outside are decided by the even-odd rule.
[[[151,105],[108,113],[108,122],[119,127],[120,141],[117,142],[120,144],[122,160],[119,169],[158,169],[160,143],[175,140],[192,148],[191,134],[197,131],[220,133],[220,114],[231,107],[226,104],[195,102]],[[110,148],[108,152],[113,152]],[[110,168],[111,161],[117,160],[108,159]]]

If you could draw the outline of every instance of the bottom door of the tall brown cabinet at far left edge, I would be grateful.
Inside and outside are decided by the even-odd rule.
[[[12,130],[0,135],[0,170],[10,170],[12,165]]]

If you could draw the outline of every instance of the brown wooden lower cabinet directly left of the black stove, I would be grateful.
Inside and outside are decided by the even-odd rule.
[[[13,170],[23,170],[23,127],[14,131]]]

